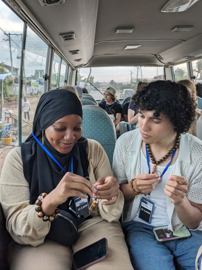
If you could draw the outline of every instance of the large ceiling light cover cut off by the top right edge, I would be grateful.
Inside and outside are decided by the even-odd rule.
[[[162,12],[182,12],[189,9],[199,0],[170,0],[161,9]]]

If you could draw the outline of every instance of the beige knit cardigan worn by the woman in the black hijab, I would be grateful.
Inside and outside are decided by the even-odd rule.
[[[92,183],[99,177],[113,175],[107,155],[98,142],[87,140],[87,155]],[[17,243],[38,246],[44,242],[51,223],[38,218],[35,205],[29,204],[29,185],[23,174],[20,147],[14,148],[6,156],[0,178],[0,201],[6,217],[6,229]],[[118,221],[123,210],[123,194],[119,193],[115,204],[102,206],[102,201],[99,201],[99,213],[97,208],[92,211],[94,218],[86,220],[79,231],[103,219]]]

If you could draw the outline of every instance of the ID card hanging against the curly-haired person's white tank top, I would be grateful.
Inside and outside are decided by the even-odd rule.
[[[139,218],[150,223],[153,213],[154,203],[147,198],[142,198],[140,202]]]

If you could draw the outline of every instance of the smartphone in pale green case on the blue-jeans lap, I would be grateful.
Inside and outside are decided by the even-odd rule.
[[[169,230],[167,225],[156,227],[153,228],[153,234],[160,243],[191,237],[191,232],[185,225],[176,232]]]

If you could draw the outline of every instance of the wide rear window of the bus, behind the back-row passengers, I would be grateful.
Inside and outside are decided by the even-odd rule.
[[[122,91],[127,89],[129,92],[133,90],[132,93],[134,93],[139,81],[150,82],[163,79],[163,67],[160,66],[99,67],[91,68],[91,73],[90,68],[79,68],[77,71],[77,85],[85,87],[96,100],[103,98],[102,93],[109,86],[116,89],[117,99],[123,99]]]

